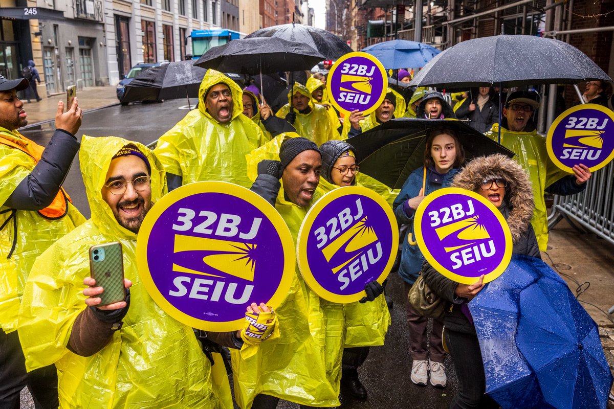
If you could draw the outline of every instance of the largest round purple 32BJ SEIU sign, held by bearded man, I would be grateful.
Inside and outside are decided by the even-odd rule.
[[[246,307],[276,308],[295,273],[292,236],[258,194],[226,182],[190,183],[162,197],[139,230],[139,277],[181,323],[235,331]]]

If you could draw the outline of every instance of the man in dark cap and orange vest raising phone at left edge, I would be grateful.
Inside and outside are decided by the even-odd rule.
[[[7,80],[0,75],[0,408],[19,407],[19,392],[26,385],[37,408],[56,408],[55,367],[26,373],[15,329],[34,260],[85,221],[61,188],[79,150],[74,134],[81,110],[77,99],[68,112],[59,102],[56,130],[43,148],[18,131],[28,124],[17,97],[17,91],[26,88],[26,78]]]

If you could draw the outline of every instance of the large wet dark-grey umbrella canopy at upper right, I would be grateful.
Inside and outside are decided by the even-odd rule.
[[[416,86],[454,87],[574,84],[612,81],[585,55],[565,42],[536,36],[482,37],[460,42],[429,61],[411,81]]]

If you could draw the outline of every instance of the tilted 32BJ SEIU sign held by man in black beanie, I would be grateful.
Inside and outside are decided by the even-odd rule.
[[[298,267],[316,294],[354,302],[365,285],[383,283],[397,256],[398,228],[390,205],[371,189],[338,188],[309,209],[297,239]]]

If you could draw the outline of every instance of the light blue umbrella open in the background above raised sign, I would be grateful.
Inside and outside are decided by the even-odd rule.
[[[409,40],[391,40],[362,50],[375,56],[386,69],[422,68],[441,51],[432,45]]]

